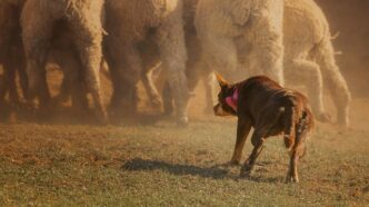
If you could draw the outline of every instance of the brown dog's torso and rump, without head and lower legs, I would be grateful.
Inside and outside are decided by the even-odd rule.
[[[245,112],[251,115],[253,127],[265,128],[265,137],[283,134],[289,151],[293,148],[302,156],[306,134],[313,127],[308,99],[263,76],[247,79],[240,88],[240,100],[245,101],[241,105],[246,106]]]

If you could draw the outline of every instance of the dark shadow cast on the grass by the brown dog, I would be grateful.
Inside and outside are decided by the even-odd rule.
[[[122,166],[126,170],[140,171],[140,170],[162,170],[169,174],[184,176],[201,176],[205,178],[222,179],[226,178],[228,170],[219,167],[197,167],[191,165],[168,164],[157,160],[132,159]]]

